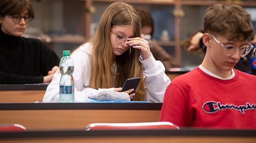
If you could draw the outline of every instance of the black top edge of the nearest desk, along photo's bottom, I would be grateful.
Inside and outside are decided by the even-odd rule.
[[[181,130],[55,130],[0,132],[0,138],[33,137],[103,137],[103,136],[193,136],[193,137],[256,137],[256,130],[218,130],[218,129],[181,129]]]

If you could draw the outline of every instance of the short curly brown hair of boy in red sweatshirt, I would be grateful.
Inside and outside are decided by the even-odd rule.
[[[206,9],[204,31],[228,40],[252,40],[254,27],[251,16],[236,4],[215,4]]]

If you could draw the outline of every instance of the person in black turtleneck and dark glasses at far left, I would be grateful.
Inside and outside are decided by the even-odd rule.
[[[34,19],[29,0],[0,1],[0,84],[50,83],[59,57],[38,39],[22,34]]]

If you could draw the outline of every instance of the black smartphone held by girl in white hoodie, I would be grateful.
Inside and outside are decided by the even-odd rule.
[[[136,90],[137,86],[139,85],[139,81],[140,80],[141,80],[140,77],[126,79],[125,82],[124,82],[124,86],[123,86],[121,92],[129,90],[131,88],[134,88],[134,90],[131,93],[135,93],[135,90]]]

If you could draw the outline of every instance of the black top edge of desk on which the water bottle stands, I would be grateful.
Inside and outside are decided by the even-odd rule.
[[[0,110],[34,109],[156,109],[162,103],[0,103]]]

